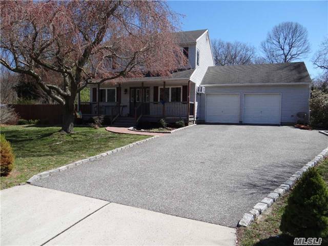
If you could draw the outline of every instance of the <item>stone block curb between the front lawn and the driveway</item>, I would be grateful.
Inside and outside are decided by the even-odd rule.
[[[147,142],[147,141],[149,141],[151,139],[154,139],[154,138],[157,138],[157,137],[159,137],[159,136],[153,136],[153,137],[150,137],[150,138],[146,138],[144,140],[133,142],[130,145],[119,147],[119,148],[116,148],[114,150],[110,150],[110,151],[107,151],[107,152],[104,152],[104,153],[101,153],[101,154],[98,154],[98,155],[94,155],[94,156],[91,156],[91,157],[88,157],[88,158],[85,158],[85,159],[82,159],[82,160],[78,160],[78,161],[69,163],[69,164],[67,164],[65,166],[61,166],[59,168],[55,168],[55,169],[52,169],[52,170],[49,170],[49,171],[45,171],[45,172],[42,172],[42,173],[35,174],[29,180],[27,180],[26,182],[27,183],[32,183],[32,182],[35,182],[37,180],[47,178],[49,176],[54,175],[55,173],[64,172],[65,170],[68,170],[68,169],[71,169],[71,168],[75,168],[75,167],[77,167],[77,166],[79,166],[79,165],[81,165],[83,163],[88,162],[88,161],[94,161],[94,160],[97,160],[99,158],[105,157],[107,155],[111,155],[113,153],[120,152],[122,150],[132,148],[132,147],[134,147],[136,145],[140,145],[140,144],[142,144],[144,142]]]

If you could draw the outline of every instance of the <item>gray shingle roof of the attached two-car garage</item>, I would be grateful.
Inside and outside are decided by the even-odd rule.
[[[311,83],[303,62],[209,67],[202,85]]]

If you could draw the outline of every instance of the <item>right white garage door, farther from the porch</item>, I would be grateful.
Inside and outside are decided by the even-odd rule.
[[[280,124],[280,94],[244,94],[243,123]]]

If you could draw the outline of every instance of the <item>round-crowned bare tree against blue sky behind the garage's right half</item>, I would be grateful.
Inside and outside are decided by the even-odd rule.
[[[310,52],[308,31],[296,22],[280,23],[268,33],[261,49],[270,63],[290,63]]]

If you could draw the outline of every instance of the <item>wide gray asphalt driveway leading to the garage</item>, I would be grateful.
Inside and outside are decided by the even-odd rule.
[[[34,185],[235,227],[327,146],[318,131],[199,125]]]

